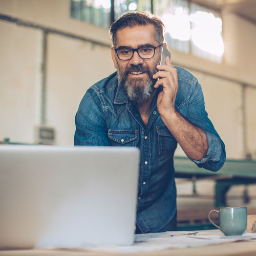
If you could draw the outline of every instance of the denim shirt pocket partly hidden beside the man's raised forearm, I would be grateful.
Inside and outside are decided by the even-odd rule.
[[[175,151],[177,141],[164,124],[157,126],[157,134],[160,155],[166,155],[169,152]]]

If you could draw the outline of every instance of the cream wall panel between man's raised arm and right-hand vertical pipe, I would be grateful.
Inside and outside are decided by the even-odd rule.
[[[228,158],[243,156],[242,87],[238,83],[193,72],[204,93],[205,108],[224,140]]]

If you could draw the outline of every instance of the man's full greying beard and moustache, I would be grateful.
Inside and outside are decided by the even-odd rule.
[[[131,65],[131,67],[127,67],[124,72],[122,72],[117,64],[118,82],[121,84],[128,98],[137,102],[145,102],[152,96],[153,92],[155,91],[154,85],[157,81],[156,79],[153,79],[153,75],[157,71],[158,70],[156,68],[154,70],[150,70],[149,68],[140,64],[138,66]],[[129,79],[128,75],[131,72],[145,72],[148,74],[148,78]]]

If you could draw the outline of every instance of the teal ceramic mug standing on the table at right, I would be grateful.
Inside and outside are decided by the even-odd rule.
[[[210,218],[214,211],[219,215],[220,226]],[[221,207],[219,210],[211,210],[208,218],[225,236],[242,236],[247,226],[247,207]]]

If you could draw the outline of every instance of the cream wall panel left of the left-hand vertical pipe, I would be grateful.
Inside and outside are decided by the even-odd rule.
[[[0,34],[0,140],[33,143],[40,118],[41,32],[0,21]]]

